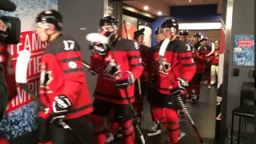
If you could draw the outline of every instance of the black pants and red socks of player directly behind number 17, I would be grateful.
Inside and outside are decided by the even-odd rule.
[[[94,126],[94,144],[106,143],[106,126],[104,124],[104,118],[112,109],[114,120],[118,122],[118,125],[122,128],[122,138],[124,143],[134,144],[134,126],[132,125],[130,106],[106,102],[99,99],[94,100],[94,112],[91,116],[91,122]]]

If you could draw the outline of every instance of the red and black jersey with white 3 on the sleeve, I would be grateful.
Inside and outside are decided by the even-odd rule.
[[[162,94],[170,94],[169,87],[177,78],[184,78],[186,81],[190,82],[194,77],[196,67],[192,53],[188,51],[184,42],[174,40],[167,46],[163,62],[166,71],[163,70],[162,65],[159,63],[158,51],[153,52],[151,58],[153,58],[151,61],[154,72],[158,74],[158,91]],[[170,82],[166,74],[170,75],[172,82]]]

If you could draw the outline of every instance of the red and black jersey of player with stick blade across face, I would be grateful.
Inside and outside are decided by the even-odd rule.
[[[125,90],[115,86],[114,76],[119,71],[122,73],[130,71],[135,80],[142,75],[143,65],[138,43],[121,38],[105,57],[93,54],[90,60],[92,68],[100,67],[94,97],[106,102],[129,104]],[[134,85],[129,86],[127,91],[130,101],[134,102]]]

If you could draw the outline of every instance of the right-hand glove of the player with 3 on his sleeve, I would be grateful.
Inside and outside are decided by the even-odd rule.
[[[187,86],[189,86],[189,83],[186,81],[186,79],[177,78],[174,86],[170,87],[170,93],[174,94],[174,96],[178,96],[179,94],[182,94],[184,90],[186,90]]]

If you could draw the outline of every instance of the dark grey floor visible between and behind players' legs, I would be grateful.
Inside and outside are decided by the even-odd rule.
[[[216,86],[212,86],[212,90],[209,92],[206,85],[202,85],[201,98],[197,104],[186,103],[186,107],[193,118],[194,124],[198,129],[203,141],[206,144],[217,144],[214,141],[215,134],[215,111],[216,111]],[[144,102],[144,118],[142,119],[142,133],[146,139],[146,144],[166,144],[167,135],[165,128],[162,134],[154,137],[146,136],[146,130],[152,126],[150,116],[150,106],[148,102]],[[193,127],[191,126],[188,118],[182,118],[180,122],[180,128],[186,133],[186,136],[179,141],[179,144],[200,144]],[[122,140],[120,139],[120,142]],[[136,144],[141,144],[140,139],[136,139]]]

